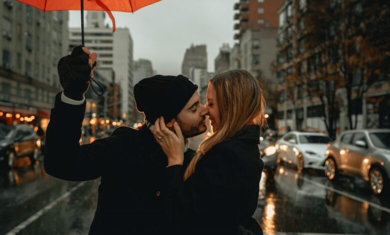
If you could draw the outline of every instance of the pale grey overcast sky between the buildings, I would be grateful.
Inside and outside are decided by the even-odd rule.
[[[161,0],[134,13],[112,13],[116,27],[130,30],[135,60],[151,60],[160,74],[179,74],[185,49],[191,43],[206,44],[208,71],[214,71],[219,47],[234,42],[235,2],[238,0]],[[105,20],[112,25],[108,16]],[[69,26],[80,24],[80,12],[70,11]]]

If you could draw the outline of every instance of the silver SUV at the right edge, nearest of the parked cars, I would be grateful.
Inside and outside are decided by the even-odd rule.
[[[325,175],[339,173],[362,177],[374,194],[390,187],[390,129],[360,129],[342,132],[326,151]]]

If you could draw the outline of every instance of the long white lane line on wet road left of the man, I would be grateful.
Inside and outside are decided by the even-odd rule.
[[[51,201],[49,204],[35,212],[33,215],[28,217],[26,220],[21,222],[19,225],[16,227],[12,228],[9,232],[5,233],[5,235],[14,235],[18,233],[20,230],[24,229],[27,225],[38,219],[40,216],[42,216],[44,213],[46,213],[48,210],[50,210],[52,207],[54,207],[56,204],[58,204],[61,200],[65,199],[66,197],[69,197],[72,192],[74,192],[77,188],[81,187],[84,185],[85,182],[80,182],[74,187],[72,187],[69,191],[63,193],[61,196],[56,198],[55,200]]]

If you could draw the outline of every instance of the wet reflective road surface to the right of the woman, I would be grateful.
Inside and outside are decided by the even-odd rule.
[[[322,172],[285,166],[267,176],[262,174],[253,215],[264,233],[390,234],[388,195],[370,194],[358,180],[330,182]]]

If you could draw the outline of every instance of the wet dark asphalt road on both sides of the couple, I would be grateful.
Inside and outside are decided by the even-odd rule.
[[[389,196],[371,195],[362,180],[287,166],[273,178],[263,173],[253,215],[264,233],[390,234]],[[0,234],[87,234],[98,183],[53,178],[39,162],[0,169]]]

